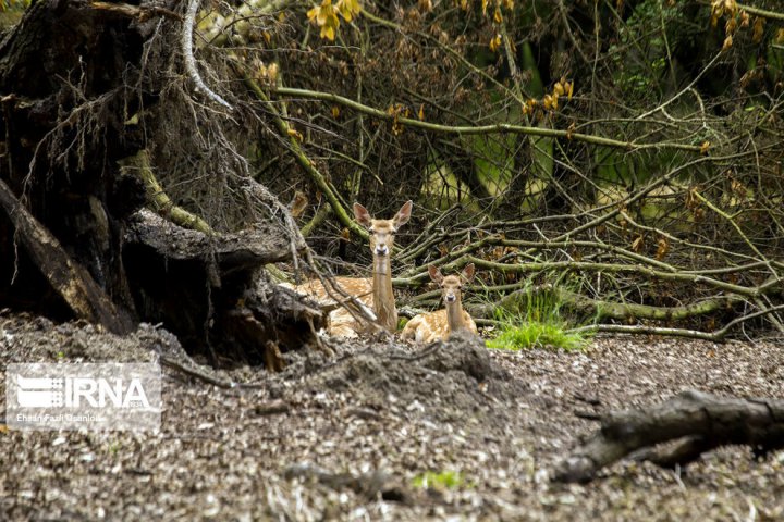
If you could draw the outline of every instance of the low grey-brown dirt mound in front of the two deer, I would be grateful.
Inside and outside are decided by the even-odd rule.
[[[471,415],[487,422],[500,415],[489,423],[500,426],[506,422],[500,403],[527,393],[527,386],[511,380],[490,358],[485,343],[471,335],[454,335],[420,349],[366,345],[318,369],[314,361],[294,366],[284,375],[290,384],[298,381],[299,389],[351,394],[377,411],[402,405],[409,412],[427,411],[438,421]],[[279,389],[277,395],[284,393]]]

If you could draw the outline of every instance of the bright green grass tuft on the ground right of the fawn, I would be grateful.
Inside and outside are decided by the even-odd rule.
[[[554,293],[525,293],[516,310],[497,309],[500,333],[487,341],[488,348],[522,350],[555,348],[566,351],[585,349],[589,336],[568,332],[569,324],[561,315],[561,303]],[[520,302],[520,301],[518,301]]]

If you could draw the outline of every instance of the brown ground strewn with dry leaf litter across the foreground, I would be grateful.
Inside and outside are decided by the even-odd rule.
[[[781,520],[784,452],[722,448],[685,470],[622,461],[585,485],[553,464],[611,409],[695,388],[782,397],[784,344],[604,337],[586,352],[454,338],[332,343],[287,368],[197,366],[168,332],[0,316],[9,362],[163,356],[158,432],[0,431],[0,520]],[[2,427],[2,426],[0,426]],[[429,475],[426,473],[431,472]],[[450,476],[451,487],[433,474]],[[429,487],[422,477],[430,477]]]

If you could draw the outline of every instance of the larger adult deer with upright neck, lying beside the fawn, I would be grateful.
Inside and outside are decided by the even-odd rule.
[[[372,277],[335,277],[335,291],[323,287],[320,281],[313,279],[297,285],[294,290],[305,294],[320,304],[334,304],[341,293],[355,297],[360,304],[372,310],[378,323],[388,332],[397,330],[397,308],[392,293],[391,254],[394,235],[408,222],[413,203],[407,201],[391,220],[373,220],[365,207],[354,203],[354,217],[370,232],[370,250],[373,256]],[[335,336],[354,336],[366,330],[345,308],[330,312],[327,331]]]

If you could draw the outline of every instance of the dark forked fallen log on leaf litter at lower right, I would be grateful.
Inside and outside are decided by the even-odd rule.
[[[653,446],[676,442],[669,448]],[[784,447],[784,400],[724,398],[687,390],[658,406],[614,411],[601,428],[556,464],[553,480],[589,482],[604,467],[636,452],[664,467],[685,465],[706,451],[748,445],[755,455]]]

